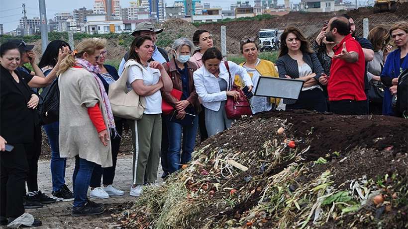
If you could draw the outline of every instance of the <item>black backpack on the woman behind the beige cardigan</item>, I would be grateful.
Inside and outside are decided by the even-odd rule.
[[[58,79],[45,87],[41,95],[45,95],[39,106],[42,123],[50,124],[59,121],[60,90],[58,88]]]

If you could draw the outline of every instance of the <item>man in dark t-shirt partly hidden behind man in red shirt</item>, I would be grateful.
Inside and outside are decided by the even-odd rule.
[[[365,72],[364,72],[364,92],[367,96],[367,103],[368,103],[368,92],[370,90],[370,84],[367,77],[367,62],[372,61],[374,59],[374,47],[371,42],[364,38],[364,37],[357,37],[356,36],[356,25],[354,24],[354,19],[347,14],[343,14],[343,17],[347,18],[348,22],[350,22],[350,33],[351,36],[360,43],[361,48],[363,48],[364,52],[364,59],[365,59]],[[367,113],[368,113],[368,105],[367,105]]]

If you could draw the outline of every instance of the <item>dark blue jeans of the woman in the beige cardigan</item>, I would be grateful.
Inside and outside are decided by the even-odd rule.
[[[72,183],[74,186],[74,207],[81,208],[87,201],[89,183],[91,182],[92,172],[97,164],[75,156],[75,169],[72,174]]]

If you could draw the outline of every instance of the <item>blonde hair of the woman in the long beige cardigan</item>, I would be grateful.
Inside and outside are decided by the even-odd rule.
[[[66,56],[60,66],[58,75],[64,73],[68,69],[72,68],[75,65],[75,58],[82,58],[84,53],[93,55],[96,50],[103,49],[106,45],[106,39],[101,38],[88,38],[81,41],[75,50],[68,56]]]

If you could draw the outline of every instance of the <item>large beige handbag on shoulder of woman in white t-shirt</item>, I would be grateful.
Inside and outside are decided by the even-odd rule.
[[[143,73],[143,69],[134,60],[128,60],[125,63],[125,69],[120,77],[113,83],[109,84],[109,100],[110,107],[114,116],[138,120],[143,116],[146,108],[146,100],[143,96],[139,96],[132,88],[127,88],[127,72],[131,66],[137,66]]]

